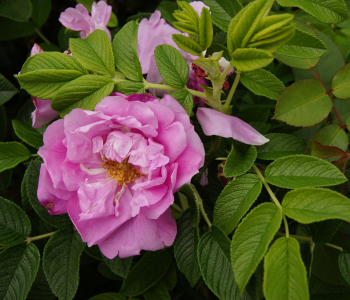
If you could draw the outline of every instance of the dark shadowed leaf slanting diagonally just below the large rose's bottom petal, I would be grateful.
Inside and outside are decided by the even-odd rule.
[[[171,256],[169,250],[146,252],[124,279],[120,292],[130,297],[144,293],[164,276]]]

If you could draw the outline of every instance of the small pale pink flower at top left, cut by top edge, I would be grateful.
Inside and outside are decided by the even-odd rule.
[[[62,12],[58,20],[63,26],[74,31],[80,31],[80,37],[83,39],[96,29],[105,31],[111,39],[111,33],[106,26],[111,13],[112,6],[100,0],[97,4],[96,2],[92,4],[91,16],[84,5],[78,4],[75,8],[69,7]]]

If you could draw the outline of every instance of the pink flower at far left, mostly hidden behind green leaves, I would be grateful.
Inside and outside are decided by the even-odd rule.
[[[42,52],[44,52],[44,50],[38,44],[34,44],[30,56]],[[32,97],[32,99],[35,106],[35,110],[31,115],[33,128],[40,128],[58,117],[58,112],[51,108],[51,100],[42,100],[36,97]]]

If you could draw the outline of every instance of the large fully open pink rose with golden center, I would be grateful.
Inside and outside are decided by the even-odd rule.
[[[68,212],[88,246],[113,258],[170,246],[173,193],[203,166],[203,144],[171,96],[109,96],[44,134],[38,199]]]

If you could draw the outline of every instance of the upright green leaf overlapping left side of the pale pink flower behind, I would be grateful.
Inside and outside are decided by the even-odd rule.
[[[118,31],[113,39],[113,54],[115,65],[126,78],[133,81],[142,81],[142,69],[137,56],[136,21],[130,21]]]

